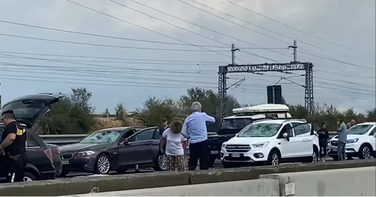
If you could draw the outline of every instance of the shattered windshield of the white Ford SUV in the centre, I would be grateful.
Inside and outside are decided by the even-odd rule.
[[[277,123],[250,124],[237,137],[271,137],[277,134],[280,126]]]

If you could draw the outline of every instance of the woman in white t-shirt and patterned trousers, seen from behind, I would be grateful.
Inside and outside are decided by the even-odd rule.
[[[170,128],[162,134],[161,144],[162,147],[165,147],[167,171],[175,171],[175,166],[177,166],[177,171],[186,170],[183,147],[187,146],[187,139],[183,137],[181,130],[182,123],[173,122]]]

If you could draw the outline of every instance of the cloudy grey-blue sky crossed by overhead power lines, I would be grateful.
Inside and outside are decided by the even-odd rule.
[[[218,92],[231,44],[237,64],[289,63],[296,40],[297,61],[314,64],[314,102],[364,113],[376,105],[375,2],[0,0],[2,103],[85,87],[96,113],[133,111],[190,87]],[[288,103],[304,105],[303,74],[228,74],[227,86],[245,80],[227,93],[265,103],[279,81]]]

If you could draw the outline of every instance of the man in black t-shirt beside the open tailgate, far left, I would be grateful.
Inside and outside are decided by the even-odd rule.
[[[26,130],[15,120],[12,110],[4,111],[2,116],[6,127],[0,141],[0,153],[4,153],[0,155],[0,162],[9,171],[7,182],[23,182],[26,166]]]

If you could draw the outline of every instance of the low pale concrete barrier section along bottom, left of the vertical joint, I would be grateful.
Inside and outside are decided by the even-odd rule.
[[[279,196],[279,181],[276,179],[240,180],[71,196]]]

